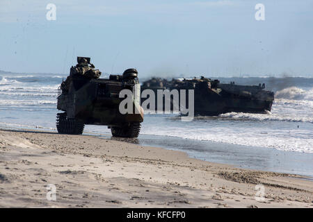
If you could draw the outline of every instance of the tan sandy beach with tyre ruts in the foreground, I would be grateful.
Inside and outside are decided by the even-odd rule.
[[[309,178],[115,139],[0,130],[0,152],[0,207],[313,207]]]

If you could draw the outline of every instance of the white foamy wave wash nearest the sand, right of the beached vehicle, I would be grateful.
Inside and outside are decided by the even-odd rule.
[[[275,148],[280,151],[296,151],[313,153],[313,139],[310,138],[307,130],[303,130],[305,138],[296,137],[296,131],[291,131],[291,135],[282,135],[279,131],[268,130],[264,132],[262,128],[250,128],[247,130],[225,130],[223,127],[214,128],[214,131],[207,128],[180,128],[176,130],[172,127],[147,128],[143,126],[142,133],[145,135],[159,135],[180,137],[183,139],[195,139],[202,141],[221,142],[225,144],[239,144],[243,146],[259,146]],[[227,133],[225,133],[227,131]],[[200,132],[200,133],[199,133]]]

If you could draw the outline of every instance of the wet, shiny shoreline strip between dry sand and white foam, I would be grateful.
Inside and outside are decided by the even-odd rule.
[[[54,128],[31,128],[27,126],[25,128],[0,126],[0,130],[56,133]],[[280,151],[275,148],[262,146],[246,146],[162,135],[141,134],[138,139],[113,138],[109,132],[85,131],[83,135],[102,139],[115,139],[140,146],[155,146],[172,151],[182,151],[187,153],[189,157],[197,160],[227,164],[239,169],[297,174],[306,177],[308,180],[313,180],[313,153]],[[201,151],[198,151],[199,149]]]

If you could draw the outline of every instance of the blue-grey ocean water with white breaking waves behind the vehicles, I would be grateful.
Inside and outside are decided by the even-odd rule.
[[[63,78],[66,76],[0,73],[0,128],[55,130],[59,112],[57,89]],[[246,146],[255,151],[262,147],[263,151],[283,151],[291,156],[303,153],[313,162],[313,78],[219,79],[222,83],[233,80],[238,84],[266,83],[266,89],[275,92],[272,111],[268,114],[230,112],[218,117],[195,117],[190,122],[182,122],[175,114],[146,114],[138,139],[147,145],[156,144],[161,137],[180,141],[181,145],[193,141],[192,144],[232,144],[233,148]],[[106,126],[86,126],[85,133],[109,135],[110,131]],[[156,139],[152,142],[149,138]],[[179,150],[179,146],[175,149]],[[208,155],[209,146],[201,147],[193,156]]]

